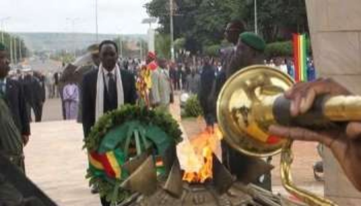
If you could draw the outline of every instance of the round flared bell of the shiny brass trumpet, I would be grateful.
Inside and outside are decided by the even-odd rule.
[[[232,75],[217,100],[217,118],[224,139],[247,155],[267,157],[281,152],[286,140],[268,134],[274,123],[271,107],[260,103],[286,91],[293,79],[273,67],[255,65]]]

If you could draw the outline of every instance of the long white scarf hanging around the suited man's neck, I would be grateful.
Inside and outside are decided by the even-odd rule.
[[[102,64],[99,66],[98,79],[96,81],[96,100],[95,100],[95,120],[99,120],[104,114],[104,67]],[[122,77],[118,65],[115,68],[115,78],[117,83],[117,97],[118,97],[118,108],[124,105],[124,93]]]

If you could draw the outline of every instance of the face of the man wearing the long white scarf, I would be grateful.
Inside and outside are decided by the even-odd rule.
[[[118,52],[113,44],[104,44],[100,50],[100,61],[103,67],[112,71],[118,61]]]

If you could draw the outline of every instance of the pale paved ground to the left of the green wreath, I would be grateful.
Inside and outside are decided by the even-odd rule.
[[[58,205],[99,206],[85,179],[87,156],[82,150],[83,131],[75,121],[31,125],[25,148],[26,173]]]

